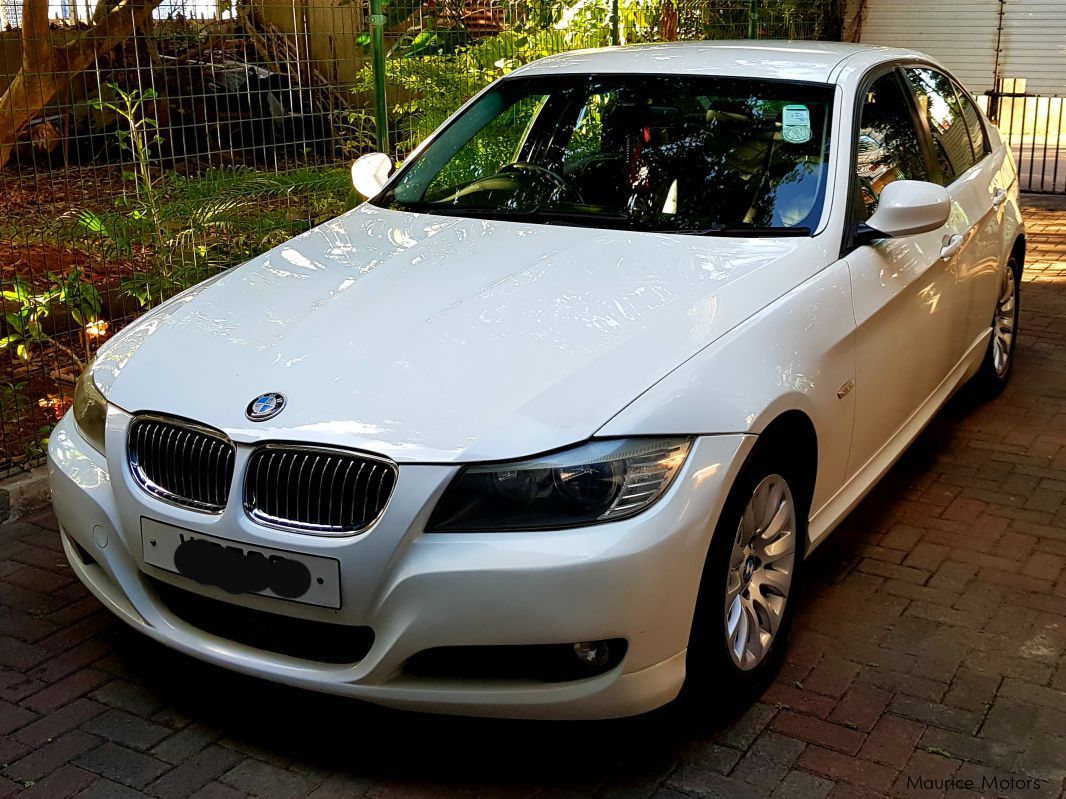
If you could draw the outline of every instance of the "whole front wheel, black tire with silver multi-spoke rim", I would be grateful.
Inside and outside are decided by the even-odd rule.
[[[710,705],[730,712],[758,698],[780,666],[791,631],[807,537],[807,508],[800,499],[802,483],[788,460],[761,442],[756,446],[729,491],[704,566],[681,692],[687,711]],[[769,509],[759,510],[760,496],[772,501],[779,496],[790,508],[788,518],[780,520],[779,529],[771,536],[766,536],[770,529],[765,522],[778,519]],[[784,507],[780,503],[778,511]],[[746,513],[748,508],[753,513]],[[744,544],[743,539],[750,535],[755,536],[752,543]],[[764,538],[772,545],[768,547]],[[780,605],[776,623],[771,616],[774,605]],[[757,640],[747,636],[744,646],[739,646],[741,636],[754,629],[753,618],[762,635]],[[769,631],[772,636],[766,642]],[[758,643],[763,647],[756,654]]]

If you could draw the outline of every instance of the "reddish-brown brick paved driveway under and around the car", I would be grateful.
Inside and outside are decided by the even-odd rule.
[[[492,722],[258,683],[113,620],[43,512],[0,527],[0,799],[1062,796],[1066,213],[1031,224],[1010,390],[956,399],[818,553],[742,717]]]

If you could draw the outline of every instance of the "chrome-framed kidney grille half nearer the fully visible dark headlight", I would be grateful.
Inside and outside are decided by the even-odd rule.
[[[270,527],[323,536],[360,533],[385,511],[397,466],[313,444],[263,444],[248,458],[244,509]]]

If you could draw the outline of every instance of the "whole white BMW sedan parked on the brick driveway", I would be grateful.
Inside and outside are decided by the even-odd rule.
[[[49,445],[75,572],[269,680],[603,718],[754,696],[804,559],[1011,374],[1024,235],[935,61],[574,52],[148,313]]]

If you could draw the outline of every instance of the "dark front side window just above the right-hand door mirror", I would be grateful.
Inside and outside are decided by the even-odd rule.
[[[882,190],[893,180],[928,180],[909,102],[894,71],[867,92],[856,142],[857,222],[870,218]]]

